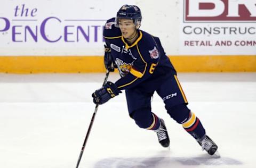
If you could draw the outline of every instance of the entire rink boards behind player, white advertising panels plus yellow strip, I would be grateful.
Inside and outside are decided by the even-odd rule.
[[[161,39],[179,72],[255,72],[255,1],[190,1],[129,3],[140,7],[141,30]],[[0,72],[104,72],[102,31],[122,5],[121,0],[4,0]]]

